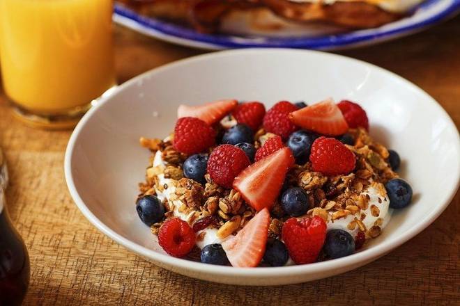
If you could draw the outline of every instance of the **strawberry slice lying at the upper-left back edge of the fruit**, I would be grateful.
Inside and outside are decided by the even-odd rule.
[[[236,100],[219,100],[199,106],[181,105],[177,109],[177,118],[199,118],[209,125],[219,122],[238,105]]]

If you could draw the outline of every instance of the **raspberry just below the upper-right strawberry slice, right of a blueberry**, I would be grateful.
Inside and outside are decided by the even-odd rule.
[[[346,175],[355,168],[355,154],[335,138],[314,140],[310,153],[312,169],[324,175]]]

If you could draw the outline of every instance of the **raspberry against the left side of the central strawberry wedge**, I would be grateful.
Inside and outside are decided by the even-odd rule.
[[[233,145],[220,145],[209,156],[207,172],[215,184],[231,188],[233,179],[250,163],[245,152],[240,148]]]

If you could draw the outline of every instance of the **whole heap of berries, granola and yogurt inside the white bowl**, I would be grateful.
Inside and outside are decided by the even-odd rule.
[[[353,254],[410,204],[399,155],[372,139],[360,105],[220,100],[178,108],[151,150],[139,218],[165,252],[238,267]]]

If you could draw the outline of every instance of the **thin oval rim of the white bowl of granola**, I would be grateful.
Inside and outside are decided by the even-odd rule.
[[[408,86],[412,90],[415,90],[419,92],[422,95],[425,95],[428,100],[431,100],[431,104],[433,104],[434,107],[438,108],[438,110],[443,113],[445,116],[445,119],[447,120],[448,124],[447,126],[453,129],[454,131],[457,132],[457,143],[452,143],[456,147],[457,152],[460,152],[460,136],[459,136],[459,131],[457,127],[455,126],[452,118],[450,118],[450,115],[447,114],[447,112],[444,110],[436,100],[428,95],[427,92],[424,92],[421,88],[418,86],[415,86],[415,84],[411,83],[410,81],[404,79],[403,77],[399,77],[397,74],[394,74],[393,72],[390,72],[388,70],[385,70],[381,67],[378,67],[376,65],[367,63],[365,61],[360,61],[355,58],[348,58],[347,56],[342,56],[338,54],[328,54],[322,51],[311,51],[311,50],[298,50],[298,49],[282,49],[282,48],[274,48],[274,49],[259,49],[259,48],[254,48],[254,49],[236,49],[236,50],[227,50],[227,51],[217,51],[213,52],[210,54],[202,54],[199,56],[192,56],[190,58],[185,58],[180,61],[176,61],[174,63],[169,63],[167,65],[162,65],[160,67],[156,67],[153,70],[149,70],[148,72],[144,72],[143,74],[139,74],[137,77],[134,77],[125,83],[121,84],[114,90],[114,95],[116,95],[118,92],[123,91],[125,88],[128,88],[132,86],[132,84],[137,83],[139,80],[144,79],[144,78],[149,78],[152,77],[155,74],[160,74],[164,70],[169,70],[170,68],[174,67],[180,67],[181,65],[187,65],[189,63],[197,63],[199,61],[207,61],[208,59],[213,59],[213,58],[225,58],[228,56],[233,56],[233,55],[238,55],[238,54],[277,54],[277,53],[296,53],[296,54],[305,54],[305,56],[322,56],[323,58],[334,58],[334,59],[340,59],[342,61],[351,61],[355,64],[358,65],[364,65],[365,67],[369,67],[373,70],[377,70],[378,72],[383,72],[385,74],[390,74],[391,77],[396,78],[398,81],[401,81],[404,86]],[[100,232],[105,234],[106,236],[109,236],[111,239],[116,241],[117,243],[123,245],[125,248],[128,248],[128,250],[131,250],[132,252],[135,252],[137,255],[140,255],[142,257],[147,257],[148,259],[152,259],[155,262],[160,262],[161,264],[167,265],[167,266],[175,266],[176,268],[179,269],[187,269],[189,271],[194,271],[194,272],[206,272],[206,273],[212,273],[214,275],[227,275],[230,277],[263,277],[263,276],[297,276],[297,275],[304,275],[304,274],[310,274],[310,273],[319,273],[321,271],[332,271],[334,269],[339,269],[339,268],[344,268],[347,266],[360,266],[360,264],[367,264],[369,261],[372,261],[378,257],[381,257],[391,250],[394,250],[395,248],[399,247],[399,245],[406,243],[409,239],[412,239],[415,235],[419,234],[427,228],[431,223],[440,216],[440,214],[447,208],[447,205],[452,202],[452,199],[454,198],[454,195],[457,192],[457,189],[460,186],[460,166],[457,169],[457,184],[452,184],[452,186],[447,187],[446,193],[443,193],[442,197],[438,201],[440,204],[436,206],[436,209],[433,211],[430,211],[429,214],[424,216],[420,220],[419,223],[411,227],[410,230],[407,232],[404,232],[401,234],[401,236],[395,238],[395,239],[387,239],[385,241],[382,241],[379,245],[375,245],[374,247],[368,248],[366,250],[362,250],[360,252],[356,252],[353,255],[347,256],[347,257],[342,257],[339,259],[332,259],[328,261],[320,261],[316,262],[313,264],[302,264],[302,265],[295,265],[295,266],[281,266],[281,267],[257,267],[257,268],[237,268],[237,267],[232,267],[232,266],[215,266],[211,264],[203,264],[201,262],[197,261],[190,261],[187,259],[181,259],[181,258],[176,258],[172,257],[170,255],[164,255],[161,254],[160,252],[155,252],[154,250],[148,249],[144,247],[143,245],[139,245],[133,241],[130,241],[129,239],[126,239],[125,237],[121,236],[121,234],[116,233],[114,230],[112,230],[109,226],[105,225],[105,223],[102,223],[99,218],[97,218],[91,210],[86,207],[86,204],[82,200],[82,198],[79,195],[79,192],[77,191],[77,188],[75,187],[75,182],[72,177],[72,153],[74,152],[75,145],[77,143],[77,139],[79,138],[80,132],[84,129],[86,126],[86,122],[88,122],[93,115],[105,104],[109,103],[114,95],[109,95],[109,97],[102,97],[100,101],[93,106],[86,115],[80,120],[80,122],[77,124],[77,127],[75,127],[75,130],[72,132],[72,135],[70,136],[70,139],[68,141],[68,146],[66,148],[66,154],[64,158],[64,172],[65,172],[65,177],[66,177],[66,183],[68,186],[68,190],[70,192],[70,195],[72,196],[72,199],[74,200],[75,204],[79,208],[79,210],[82,212],[82,214],[96,227]],[[344,271],[342,270],[342,273]],[[338,274],[338,273],[337,273]]]

